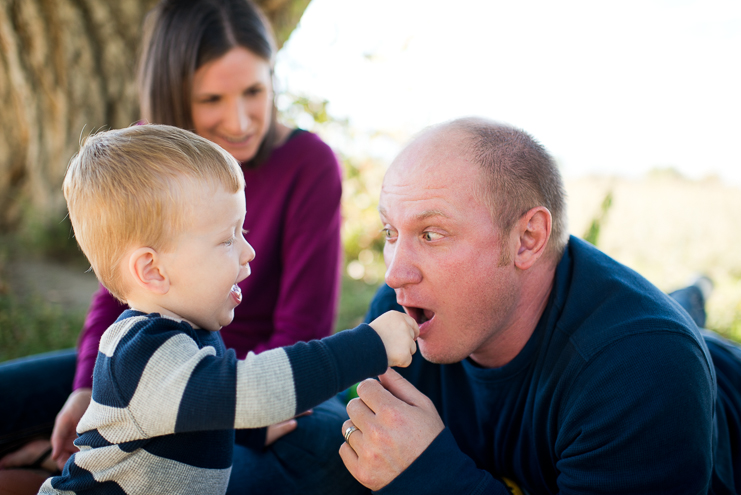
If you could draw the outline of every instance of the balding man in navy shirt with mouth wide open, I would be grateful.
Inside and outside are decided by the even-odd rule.
[[[363,485],[738,491],[738,349],[568,236],[560,174],[528,134],[480,119],[427,130],[389,168],[379,211],[388,285],[368,317],[403,308],[421,352],[347,406],[340,455]]]

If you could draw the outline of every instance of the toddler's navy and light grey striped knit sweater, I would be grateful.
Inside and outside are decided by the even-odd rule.
[[[100,341],[80,451],[39,493],[225,493],[235,429],[289,419],[387,364],[368,325],[238,360],[218,332],[127,310]]]

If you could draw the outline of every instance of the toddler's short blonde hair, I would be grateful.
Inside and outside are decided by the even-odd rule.
[[[75,238],[98,280],[120,300],[119,265],[134,245],[167,251],[187,220],[194,185],[244,189],[239,163],[216,144],[167,125],[89,136],[64,178]]]

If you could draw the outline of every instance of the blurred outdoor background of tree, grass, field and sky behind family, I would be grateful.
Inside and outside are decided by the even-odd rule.
[[[741,339],[741,3],[265,0],[281,120],[344,167],[337,328],[383,281],[384,171],[464,115],[538,139],[572,234],[662,290],[709,276],[708,327]],[[95,277],[61,179],[81,134],[138,119],[151,0],[0,0],[0,361],[71,347]]]

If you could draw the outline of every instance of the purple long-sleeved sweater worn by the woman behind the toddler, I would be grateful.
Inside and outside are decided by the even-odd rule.
[[[243,169],[247,241],[255,248],[242,304],[221,330],[243,359],[332,332],[340,270],[340,167],[316,135],[296,132],[255,170]],[[103,332],[127,306],[100,287],[80,335],[74,388],[92,386]]]

